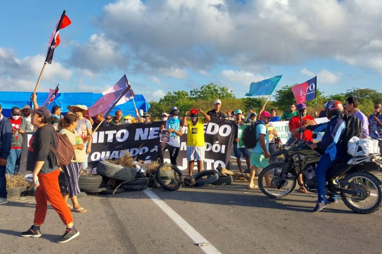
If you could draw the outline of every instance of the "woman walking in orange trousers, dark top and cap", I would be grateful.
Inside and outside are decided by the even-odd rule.
[[[48,202],[59,214],[66,225],[65,234],[58,240],[64,243],[79,235],[73,225],[73,217],[64,198],[61,195],[58,177],[60,167],[57,166],[55,155],[49,150],[52,145],[57,148],[53,125],[50,124],[50,111],[45,107],[30,110],[31,123],[37,130],[30,140],[27,166],[33,169],[33,187],[36,188],[36,211],[32,227],[21,233],[23,237],[40,237],[40,226],[44,223]]]

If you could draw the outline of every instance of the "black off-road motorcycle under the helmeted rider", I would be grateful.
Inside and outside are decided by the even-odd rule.
[[[315,169],[321,153],[317,149],[312,150],[310,144],[292,136],[284,149],[271,154],[284,154],[285,160],[272,163],[261,171],[259,188],[263,194],[270,198],[290,195],[300,173],[304,179],[303,186],[309,192],[317,193]],[[347,162],[334,165],[326,173],[326,195],[340,194],[345,205],[354,212],[371,213],[378,210],[382,205],[382,182],[369,172],[382,166],[379,155],[352,157]],[[269,181],[265,181],[266,178]]]

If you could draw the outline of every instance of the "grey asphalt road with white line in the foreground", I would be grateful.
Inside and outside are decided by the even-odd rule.
[[[315,194],[269,199],[247,184],[88,195],[79,198],[88,212],[73,212],[80,235],[64,244],[56,241],[65,226],[51,207],[43,236],[21,237],[33,223],[34,197],[9,199],[0,205],[0,253],[382,252],[382,209],[358,214],[339,200],[310,213]]]

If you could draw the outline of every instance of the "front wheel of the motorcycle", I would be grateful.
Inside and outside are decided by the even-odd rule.
[[[297,179],[291,173],[287,175],[282,173],[284,167],[269,165],[261,171],[259,175],[259,188],[263,194],[270,198],[283,198],[293,192],[296,188]],[[280,188],[278,188],[279,186]]]

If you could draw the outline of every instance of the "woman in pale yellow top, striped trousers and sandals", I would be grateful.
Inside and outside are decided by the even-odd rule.
[[[66,177],[66,187],[64,190],[64,200],[68,202],[68,198],[72,201],[73,207],[68,204],[68,207],[74,212],[87,212],[78,204],[77,195],[79,193],[79,171],[81,164],[85,161],[86,151],[84,149],[84,140],[81,135],[77,133],[75,128],[77,127],[78,117],[74,114],[66,114],[63,119],[60,120],[61,134],[68,136],[70,143],[72,143],[75,160],[72,160],[67,167],[63,167]]]

